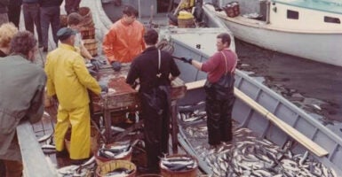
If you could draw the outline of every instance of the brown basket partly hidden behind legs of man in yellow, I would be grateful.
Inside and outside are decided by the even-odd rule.
[[[65,146],[70,153],[70,138],[71,138],[71,129],[68,129],[68,132],[64,138]],[[99,132],[95,127],[91,127],[91,153],[96,154],[96,150],[99,149]]]

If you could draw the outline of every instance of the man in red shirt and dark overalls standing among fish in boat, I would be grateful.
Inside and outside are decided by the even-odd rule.
[[[220,142],[230,142],[232,133],[232,110],[235,101],[234,82],[237,55],[229,49],[230,36],[223,33],[217,36],[217,52],[206,62],[191,58],[181,58],[184,62],[208,73],[204,89],[206,93],[208,140],[212,146]]]

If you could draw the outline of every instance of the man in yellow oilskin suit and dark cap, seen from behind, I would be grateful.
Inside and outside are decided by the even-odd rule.
[[[71,125],[70,155],[73,164],[79,165],[89,158],[91,152],[91,120],[87,89],[99,95],[97,81],[88,73],[84,58],[74,47],[76,31],[68,27],[57,33],[60,45],[48,53],[45,72],[47,74],[47,95],[57,98],[59,109],[55,128],[57,157],[67,155],[64,138]]]

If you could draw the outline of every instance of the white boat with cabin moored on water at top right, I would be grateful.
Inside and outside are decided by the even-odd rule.
[[[238,3],[239,14],[232,11]],[[329,0],[219,0],[210,6],[236,38],[259,47],[342,66],[342,2]],[[236,15],[236,16],[235,16]]]

